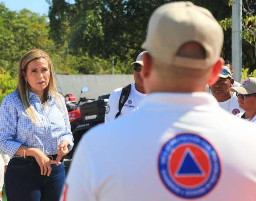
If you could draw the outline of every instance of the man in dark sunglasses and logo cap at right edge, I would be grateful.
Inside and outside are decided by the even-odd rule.
[[[239,107],[245,111],[236,116],[256,123],[256,78],[247,78],[241,86],[229,90],[236,93]]]

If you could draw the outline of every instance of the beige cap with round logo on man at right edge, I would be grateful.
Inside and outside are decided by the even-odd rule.
[[[247,78],[240,86],[231,87],[229,90],[240,94],[256,93],[256,78]]]

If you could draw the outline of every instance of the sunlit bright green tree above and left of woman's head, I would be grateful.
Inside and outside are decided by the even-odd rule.
[[[48,32],[46,16],[26,9],[12,12],[0,4],[0,67],[14,75],[26,51],[33,48],[51,51],[53,41],[48,39]]]

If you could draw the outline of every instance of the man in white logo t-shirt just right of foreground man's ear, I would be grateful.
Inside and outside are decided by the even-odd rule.
[[[218,81],[210,86],[210,90],[217,99],[219,106],[233,115],[244,112],[238,105],[238,98],[235,93],[229,91],[234,83],[230,69],[227,66],[222,66],[222,71],[218,76]]]

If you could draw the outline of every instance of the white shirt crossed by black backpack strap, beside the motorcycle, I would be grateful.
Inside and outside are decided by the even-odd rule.
[[[116,114],[119,112],[119,99],[123,88],[118,88],[112,91],[108,99],[105,113],[105,123],[115,119]],[[127,101],[125,102],[121,115],[128,114],[138,110],[140,101],[146,96],[135,89],[135,84],[131,85],[131,90]]]

